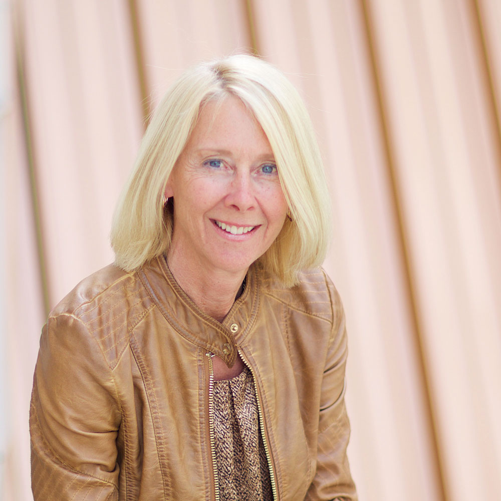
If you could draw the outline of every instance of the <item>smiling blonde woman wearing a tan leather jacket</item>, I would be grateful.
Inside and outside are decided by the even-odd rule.
[[[273,66],[238,55],[179,78],[118,204],[115,264],[43,329],[36,500],[356,499],[342,306],[315,268],[325,185]]]

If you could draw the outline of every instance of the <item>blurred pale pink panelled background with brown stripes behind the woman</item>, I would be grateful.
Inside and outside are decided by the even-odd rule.
[[[113,260],[150,111],[235,51],[281,68],[318,132],[360,498],[501,499],[498,0],[0,1],[0,498],[32,499],[41,327]]]

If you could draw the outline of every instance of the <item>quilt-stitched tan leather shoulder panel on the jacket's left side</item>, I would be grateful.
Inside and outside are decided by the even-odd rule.
[[[78,318],[114,368],[129,345],[129,332],[153,307],[136,273],[114,265],[80,282],[51,312]]]

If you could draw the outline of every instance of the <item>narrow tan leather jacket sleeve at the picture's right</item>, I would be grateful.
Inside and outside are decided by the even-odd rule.
[[[321,388],[317,469],[305,500],[356,501],[346,448],[350,422],[345,406],[345,367],[348,354],[343,306],[328,280],[333,325]]]

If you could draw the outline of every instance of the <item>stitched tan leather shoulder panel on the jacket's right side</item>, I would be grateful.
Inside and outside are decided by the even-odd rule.
[[[299,280],[299,285],[287,288],[277,279],[263,274],[262,292],[292,309],[332,323],[332,291],[329,290],[332,282],[324,270],[322,268],[305,270],[299,275]]]

